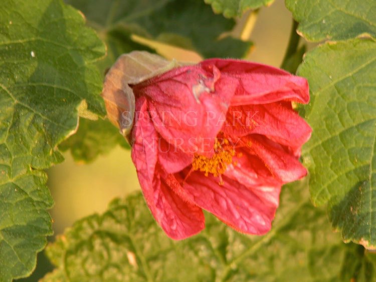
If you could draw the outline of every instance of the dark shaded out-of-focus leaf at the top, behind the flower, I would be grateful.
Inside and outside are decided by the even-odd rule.
[[[114,32],[121,33],[124,42],[126,41],[129,48],[133,50],[140,49],[140,46],[136,47],[131,43],[131,34],[194,50],[204,57],[241,58],[247,55],[252,45],[250,42],[231,37],[220,39],[221,34],[234,28],[235,21],[214,15],[211,8],[202,0],[67,0],[67,2],[80,9],[89,24],[104,38]],[[124,49],[121,50],[122,53],[132,51]],[[110,51],[110,56],[113,56],[111,53]],[[112,60],[114,61],[119,55],[115,54]]]

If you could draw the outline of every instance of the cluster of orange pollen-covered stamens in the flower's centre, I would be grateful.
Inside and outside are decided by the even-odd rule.
[[[211,158],[195,154],[192,162],[193,170],[200,170],[205,173],[205,176],[212,173],[214,176],[221,177],[227,166],[232,163],[235,150],[229,145],[229,140],[223,139],[223,142],[220,143],[216,139],[214,151],[215,153]]]

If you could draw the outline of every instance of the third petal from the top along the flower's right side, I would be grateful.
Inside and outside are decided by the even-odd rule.
[[[243,140],[249,144],[250,153],[259,157],[272,175],[283,183],[307,175],[305,167],[286,147],[258,134],[243,137]]]

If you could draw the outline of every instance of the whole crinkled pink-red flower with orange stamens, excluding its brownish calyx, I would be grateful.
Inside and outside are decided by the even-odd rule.
[[[203,209],[238,231],[271,228],[281,186],[304,177],[311,129],[291,102],[304,78],[240,60],[210,59],[130,85],[132,160],[146,202],[173,239],[205,227]]]

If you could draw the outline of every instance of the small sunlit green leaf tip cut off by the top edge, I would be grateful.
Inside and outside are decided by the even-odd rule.
[[[241,17],[249,9],[258,9],[272,5],[274,0],[204,0],[212,5],[214,13],[223,14],[226,18]]]

